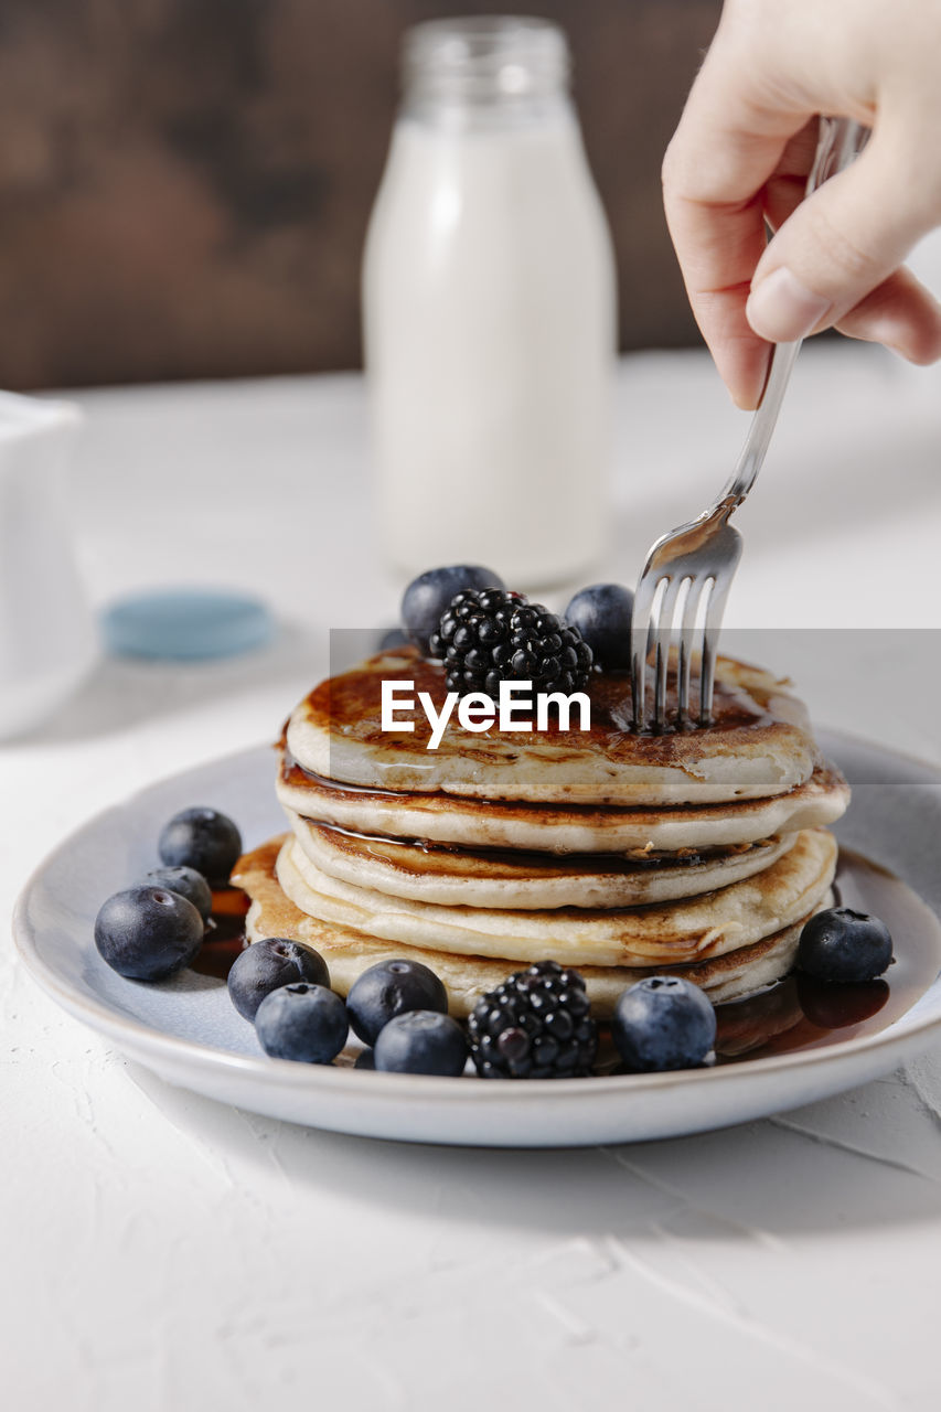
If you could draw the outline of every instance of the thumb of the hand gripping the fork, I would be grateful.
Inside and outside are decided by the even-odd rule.
[[[937,219],[924,184],[876,131],[863,154],[803,201],[762,256],[746,318],[771,343],[838,323],[904,261]]]

